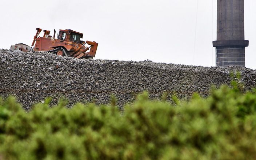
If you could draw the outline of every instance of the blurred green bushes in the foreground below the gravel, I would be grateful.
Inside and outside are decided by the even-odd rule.
[[[166,94],[166,93],[165,93]],[[256,94],[212,89],[175,105],[141,93],[121,114],[109,105],[66,108],[50,99],[26,113],[0,99],[0,159],[256,159]]]

